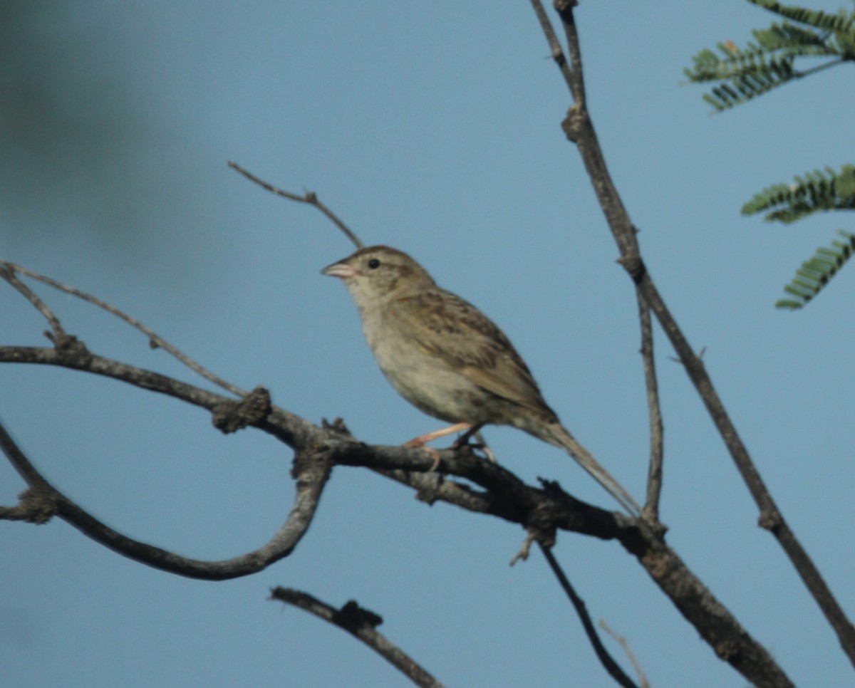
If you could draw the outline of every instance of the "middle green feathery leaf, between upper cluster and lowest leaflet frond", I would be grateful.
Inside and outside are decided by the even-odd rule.
[[[766,220],[789,224],[822,210],[852,209],[855,209],[855,166],[844,165],[839,173],[825,168],[796,177],[793,184],[768,186],[742,206],[742,215],[765,212]]]

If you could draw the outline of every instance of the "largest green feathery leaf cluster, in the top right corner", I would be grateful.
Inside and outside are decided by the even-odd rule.
[[[718,112],[758,97],[777,86],[841,62],[855,62],[855,13],[781,5],[771,0],[748,0],[787,20],[756,30],[745,48],[719,43],[719,53],[701,50],[684,73],[693,82],[720,81],[704,99]],[[799,22],[803,26],[793,23]],[[799,57],[829,57],[806,71],[795,68]]]

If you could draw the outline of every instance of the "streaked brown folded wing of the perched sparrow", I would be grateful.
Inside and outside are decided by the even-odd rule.
[[[424,350],[475,385],[529,409],[549,409],[513,344],[471,303],[436,289],[399,298],[389,309]]]

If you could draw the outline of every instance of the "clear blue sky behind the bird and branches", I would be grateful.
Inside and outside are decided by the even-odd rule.
[[[13,46],[35,78],[65,91],[33,139],[42,157],[3,143],[0,185],[16,191],[3,192],[0,256],[114,303],[309,420],[342,416],[378,444],[434,429],[387,385],[350,298],[319,273],[351,245],[313,209],[228,169],[235,160],[317,191],[364,242],[408,251],[478,305],[564,424],[643,495],[634,294],[560,130],[569,96],[528,3],[88,2],[56,13],[38,19],[56,50]],[[735,0],[668,0],[656,11],[581,3],[577,18],[595,126],[652,276],[852,614],[855,269],[803,312],[773,308],[799,262],[852,226],[739,214],[765,185],[852,162],[850,74],[830,70],[710,116],[682,68],[718,41],[744,44],[772,15]],[[104,123],[90,144],[62,147],[91,122]],[[194,381],[117,320],[39,293],[97,353]],[[4,344],[44,344],[43,330],[21,297],[0,291]],[[793,568],[756,527],[660,332],[656,344],[669,543],[797,685],[855,685]],[[221,559],[255,549],[285,519],[292,456],[260,432],[223,437],[198,409],[69,371],[7,365],[0,388],[0,418],[32,461],[134,538]],[[560,451],[508,428],[487,438],[523,479],[558,479],[611,506]],[[0,466],[0,503],[22,487]],[[345,633],[268,602],[274,585],[358,600],[447,685],[610,685],[540,556],[508,567],[522,530],[428,508],[365,471],[335,471],[291,557],[225,583],[143,567],[58,521],[0,529],[2,685],[409,685]],[[556,554],[653,685],[745,685],[616,544],[563,534]]]

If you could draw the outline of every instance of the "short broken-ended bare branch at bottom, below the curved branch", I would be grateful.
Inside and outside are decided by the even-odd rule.
[[[339,626],[339,628],[363,641],[378,655],[390,662],[392,666],[397,667],[414,684],[424,686],[424,688],[442,688],[442,684],[434,679],[424,667],[417,664],[397,645],[392,644],[382,633],[374,630],[383,623],[383,620],[374,612],[361,608],[356,602],[351,600],[341,609],[335,609],[306,592],[282,587],[276,587],[270,591],[270,598],[292,604],[294,607],[314,614],[319,619]]]

